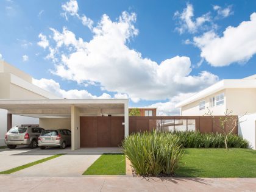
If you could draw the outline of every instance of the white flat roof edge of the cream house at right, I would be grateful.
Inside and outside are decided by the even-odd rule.
[[[226,88],[256,88],[256,79],[224,79],[210,87],[205,88],[202,91],[194,94],[188,99],[179,102],[175,107],[183,107],[190,104],[191,102],[197,101],[199,99],[205,98],[211,94],[218,91],[224,90]]]

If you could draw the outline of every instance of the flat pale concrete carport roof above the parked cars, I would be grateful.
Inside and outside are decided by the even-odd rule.
[[[123,109],[128,99],[0,99],[0,108],[13,114],[66,115],[71,114],[71,106],[78,108],[110,108]],[[27,116],[27,115],[25,115]]]

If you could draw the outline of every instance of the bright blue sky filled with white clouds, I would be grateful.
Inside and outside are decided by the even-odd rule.
[[[256,69],[256,1],[0,1],[0,60],[60,98],[177,102]]]

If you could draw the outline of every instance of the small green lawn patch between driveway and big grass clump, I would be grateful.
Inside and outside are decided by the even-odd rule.
[[[83,175],[125,175],[126,155],[103,154]]]

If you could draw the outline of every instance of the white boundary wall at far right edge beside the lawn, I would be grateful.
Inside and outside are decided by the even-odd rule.
[[[256,113],[243,116],[238,123],[238,135],[248,140],[252,149],[256,149]]]

